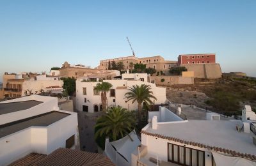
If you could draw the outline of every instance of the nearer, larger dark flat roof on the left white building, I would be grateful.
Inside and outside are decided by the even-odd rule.
[[[0,138],[10,135],[25,128],[31,126],[49,126],[70,114],[58,111],[51,111],[45,114],[40,114],[38,116],[28,117],[26,119],[20,119],[19,121],[13,121],[11,123],[6,123],[0,125]]]

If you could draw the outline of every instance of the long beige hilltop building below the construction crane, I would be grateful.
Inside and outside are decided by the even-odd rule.
[[[126,69],[132,70],[133,67],[131,64],[135,63],[142,63],[146,64],[146,68],[154,68],[157,71],[160,70],[168,70],[171,67],[177,66],[177,61],[166,61],[161,56],[152,56],[152,57],[135,57],[135,56],[126,56],[126,57],[118,57],[114,59],[106,59],[101,60],[100,65],[98,66],[99,69],[108,70],[109,62],[115,61],[115,63],[122,62]]]

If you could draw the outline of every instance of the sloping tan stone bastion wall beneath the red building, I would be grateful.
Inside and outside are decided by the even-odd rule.
[[[194,72],[195,78],[200,79],[219,79],[221,78],[220,64],[182,64],[189,72]]]

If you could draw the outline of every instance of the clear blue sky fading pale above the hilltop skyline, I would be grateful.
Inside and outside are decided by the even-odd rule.
[[[64,61],[216,53],[223,72],[256,77],[256,1],[0,0],[3,72],[49,72]]]

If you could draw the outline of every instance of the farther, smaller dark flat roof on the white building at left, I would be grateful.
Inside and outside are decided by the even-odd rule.
[[[8,114],[11,112],[16,112],[19,110],[26,110],[34,107],[42,102],[36,100],[27,100],[23,102],[10,102],[10,103],[0,103],[0,115]]]

